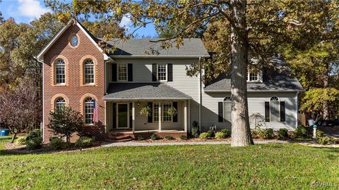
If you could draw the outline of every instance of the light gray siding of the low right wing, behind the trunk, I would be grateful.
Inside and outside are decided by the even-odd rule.
[[[230,93],[203,93],[203,106],[201,110],[201,122],[203,130],[207,130],[210,125],[216,125],[217,129],[230,129],[230,122],[218,122],[218,102],[222,102],[225,96],[230,96]],[[270,101],[270,97],[277,96],[280,101],[285,101],[286,122],[265,122],[266,127],[278,130],[287,128],[293,130],[296,127],[297,110],[296,110],[296,94],[283,92],[249,92],[249,115],[260,113],[265,117],[265,101]],[[250,119],[251,128],[254,127],[254,120]]]

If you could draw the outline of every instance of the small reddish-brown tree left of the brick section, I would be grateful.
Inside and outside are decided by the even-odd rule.
[[[19,132],[28,131],[37,125],[37,96],[32,80],[23,80],[12,89],[0,93],[0,122],[14,134],[11,143]]]

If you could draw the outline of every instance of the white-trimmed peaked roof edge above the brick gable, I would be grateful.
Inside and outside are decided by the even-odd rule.
[[[79,23],[78,20],[76,20],[76,19],[69,20],[69,23],[67,23],[67,25],[64,25],[64,27],[61,27],[61,30],[59,30],[59,32],[57,32],[57,34],[55,34],[55,36],[51,39],[51,41],[49,41],[47,46],[45,46],[44,49],[42,49],[42,51],[40,51],[40,53],[37,54],[37,56],[35,58],[37,58],[38,61],[43,61],[44,53],[46,53],[52,47],[52,45],[55,42],[57,42],[57,39],[59,39],[59,37],[61,37],[61,34],[64,34],[64,32],[74,23],[81,29],[81,31],[83,31],[83,33],[85,33],[85,35],[88,37],[88,39],[90,39],[90,41],[103,54],[104,59],[107,60],[109,58],[109,56],[107,56],[107,54],[104,51],[102,51],[100,46],[97,45],[98,39],[96,37],[94,37],[93,34],[90,34],[90,32],[87,29],[85,29],[85,27],[83,27],[83,25],[81,25],[81,23]]]

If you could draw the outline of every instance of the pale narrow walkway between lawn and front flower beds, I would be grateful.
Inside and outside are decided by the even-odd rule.
[[[254,141],[254,144],[287,144],[288,141],[268,140],[268,141]],[[116,143],[102,143],[102,147],[112,146],[165,146],[165,145],[198,145],[198,144],[231,144],[231,141],[199,141],[199,142],[116,142]]]

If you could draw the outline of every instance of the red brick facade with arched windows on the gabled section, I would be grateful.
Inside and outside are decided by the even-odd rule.
[[[78,46],[72,47],[69,38],[72,34],[78,36]],[[53,63],[57,58],[64,58],[66,63],[66,84],[54,85]],[[86,58],[93,58],[95,62],[95,85],[83,85],[82,62]],[[58,97],[66,96],[66,105],[71,106],[83,114],[83,100],[87,97],[96,99],[99,104],[99,121],[105,125],[105,102],[102,96],[105,94],[105,62],[104,56],[95,44],[88,39],[86,34],[77,26],[71,25],[61,34],[61,37],[44,54],[44,142],[49,142],[52,132],[46,127],[49,120],[49,112],[54,107],[54,101]],[[58,95],[59,94],[59,95]],[[88,131],[101,139],[105,126],[86,126]],[[76,140],[73,135],[72,141]]]

